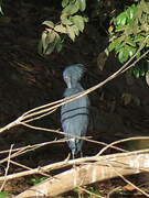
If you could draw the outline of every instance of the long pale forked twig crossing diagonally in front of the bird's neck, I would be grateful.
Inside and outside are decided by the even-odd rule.
[[[149,36],[146,37],[146,40],[148,38]],[[143,43],[146,42],[146,40],[143,41]],[[142,45],[143,45],[142,43]],[[141,46],[142,46],[141,45]],[[117,76],[119,76],[120,74],[123,74],[124,72],[128,70],[130,67],[134,67],[136,63],[138,63],[142,57],[145,57],[149,51],[147,51],[145,54],[142,54],[137,61],[135,61],[132,64],[130,64],[128,66],[128,64],[137,56],[137,54],[141,51],[141,46],[139,47],[139,50],[137,51],[137,53],[120,68],[118,69],[116,73],[114,73],[111,76],[109,76],[107,79],[105,79],[104,81],[102,81],[100,84],[81,92],[81,94],[77,94],[77,95],[74,95],[72,97],[68,97],[68,98],[65,98],[65,99],[61,99],[61,100],[57,100],[55,102],[51,102],[51,103],[47,103],[47,105],[44,105],[44,106],[41,106],[41,107],[38,107],[38,108],[34,108],[32,110],[29,110],[26,111],[25,113],[23,113],[19,119],[17,119],[15,121],[9,123],[8,125],[6,125],[4,128],[1,128],[0,129],[0,133],[2,133],[3,131],[6,130],[9,130],[10,128],[12,127],[15,127],[15,125],[19,125],[21,124],[21,122],[23,121],[28,121],[28,119],[30,120],[30,118],[32,117],[35,117],[35,116],[39,116],[36,118],[34,118],[35,120],[39,119],[41,116],[44,117],[46,116],[47,113],[51,113],[53,110],[55,110],[56,108],[63,106],[64,103],[67,103],[67,102],[71,102],[75,99],[78,99],[96,89],[98,89],[99,87],[102,87],[103,85],[107,84],[108,81],[113,80],[114,78],[116,78]],[[46,109],[45,109],[46,108]],[[45,113],[45,114],[44,114]],[[40,116],[41,114],[41,116]],[[32,120],[32,119],[31,119]]]

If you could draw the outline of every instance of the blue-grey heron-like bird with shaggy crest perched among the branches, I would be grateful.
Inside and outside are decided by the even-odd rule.
[[[82,64],[71,65],[64,69],[63,79],[67,86],[63,95],[64,98],[85,90],[79,82],[84,73],[85,67]],[[77,138],[86,135],[89,123],[89,98],[85,95],[63,105],[61,108],[62,129],[73,158],[78,153],[82,154],[83,140]]]

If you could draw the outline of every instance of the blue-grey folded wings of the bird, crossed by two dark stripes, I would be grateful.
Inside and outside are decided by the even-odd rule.
[[[88,108],[87,96],[64,105],[61,110],[63,131],[77,136],[85,135],[88,127]]]

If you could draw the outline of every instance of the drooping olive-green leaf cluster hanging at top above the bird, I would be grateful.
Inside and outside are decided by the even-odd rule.
[[[78,11],[83,12],[85,10],[86,0],[62,0],[62,7],[63,10],[58,23],[54,24],[52,21],[42,23],[46,25],[39,44],[39,53],[42,55],[49,55],[54,50],[61,52],[65,38],[63,35],[68,35],[74,42],[88,21],[86,16],[76,14]]]

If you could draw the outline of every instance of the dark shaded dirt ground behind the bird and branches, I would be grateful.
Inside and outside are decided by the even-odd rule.
[[[47,57],[38,54],[38,43],[44,20],[56,20],[56,10],[36,1],[8,1],[4,15],[0,18],[0,127],[12,122],[25,111],[62,98],[65,84],[63,69],[75,63],[82,63],[87,72],[83,79],[85,88],[97,85],[120,67],[114,55],[102,59],[102,52],[108,38],[100,34],[92,23],[75,43],[66,41],[62,53]],[[104,66],[104,69],[100,69]],[[119,76],[99,90],[89,95],[91,124],[88,135],[106,143],[149,133],[149,87],[145,79],[135,79],[128,75]],[[34,122],[38,127],[60,129],[60,109],[51,116]],[[113,135],[111,135],[113,134]],[[0,150],[35,144],[62,138],[61,135],[17,127],[0,136]],[[146,141],[123,145],[129,151],[148,147]],[[84,144],[84,155],[94,155],[99,146]],[[63,152],[62,152],[63,151]],[[67,156],[66,144],[45,146],[41,150],[15,158],[30,167],[58,162]],[[3,156],[1,156],[2,158]],[[1,169],[4,170],[6,165]],[[21,170],[13,165],[10,173]],[[137,179],[136,179],[137,180]],[[115,184],[116,183],[116,184]],[[111,180],[110,189],[123,180]],[[4,190],[17,195],[31,186],[29,179],[8,182]],[[104,184],[100,184],[99,189]],[[124,196],[124,195],[121,195]],[[124,196],[125,197],[125,196]],[[137,197],[137,196],[136,196]]]

